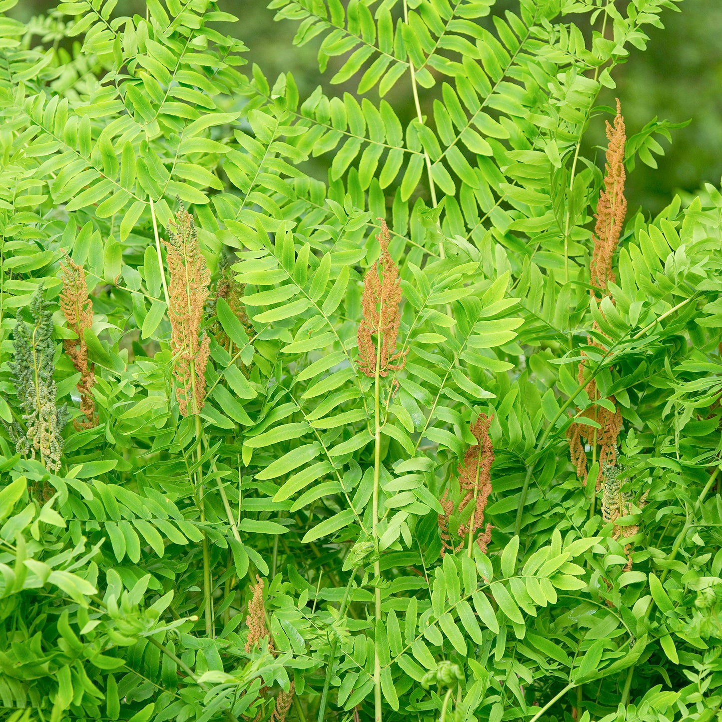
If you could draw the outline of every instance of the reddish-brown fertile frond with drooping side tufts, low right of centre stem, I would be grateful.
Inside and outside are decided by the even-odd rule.
[[[448,498],[447,491],[444,492],[440,500],[441,507],[444,510],[444,513],[438,517],[442,556],[447,549],[452,553],[458,552],[464,546],[464,537],[467,534],[476,534],[484,526],[484,509],[487,507],[487,501],[492,492],[491,468],[494,463],[494,447],[489,437],[491,422],[492,419],[487,418],[486,414],[479,414],[479,418],[469,425],[469,430],[474,435],[477,443],[466,450],[464,461],[456,469],[461,492],[466,492],[461,498],[456,512],[460,514],[464,511],[466,505],[474,501],[474,511],[468,525],[462,524],[458,528],[458,537],[461,539],[458,547],[454,547],[451,543],[451,534],[449,533],[449,521],[454,512],[453,501]],[[486,552],[487,544],[491,540],[492,529],[491,524],[487,524],[484,534],[477,539],[482,552]]]

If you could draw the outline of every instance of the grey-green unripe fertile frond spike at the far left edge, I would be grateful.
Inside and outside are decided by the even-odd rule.
[[[53,321],[42,283],[30,300],[30,319],[27,323],[20,314],[17,317],[9,363],[22,424],[14,420],[4,425],[17,453],[25,458],[39,456],[48,471],[58,471],[63,451],[61,433],[69,414],[67,406],[58,408],[56,402]]]

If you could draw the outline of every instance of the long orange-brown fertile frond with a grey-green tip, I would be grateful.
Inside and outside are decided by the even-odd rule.
[[[173,373],[178,381],[176,396],[181,414],[197,414],[206,395],[206,364],[210,339],[201,334],[201,321],[209,295],[211,273],[201,253],[193,216],[181,208],[175,221],[168,223],[167,249],[170,283],[170,348],[175,365]],[[188,406],[191,406],[189,410]]]

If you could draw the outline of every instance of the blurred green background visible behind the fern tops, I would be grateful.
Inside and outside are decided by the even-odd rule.
[[[55,4],[21,0],[11,14],[27,22]],[[274,22],[274,13],[266,9],[264,0],[220,0],[219,5],[240,17],[240,22],[219,30],[243,40],[250,49],[249,59],[261,66],[267,77],[291,71],[302,97],[322,82],[316,64],[320,38],[296,48],[292,40],[297,24]],[[516,0],[500,0],[497,4],[512,8],[516,5]],[[144,9],[142,0],[120,0],[116,13],[144,14]],[[645,214],[655,214],[675,192],[692,193],[703,183],[718,186],[722,175],[722,0],[684,0],[679,9],[682,12],[664,12],[666,28],[651,28],[647,51],[630,55],[616,71],[617,90],[602,98],[610,105],[614,95],[622,101],[630,136],[655,116],[674,123],[691,121],[686,128],[672,131],[671,146],[662,141],[666,155],[658,157],[657,169],[638,163],[630,174],[627,196],[632,212],[641,207]],[[326,78],[332,74],[326,74]],[[334,92],[342,90],[353,92],[355,82],[336,87]],[[410,118],[410,92],[401,83],[392,92],[399,114]],[[604,143],[602,118],[593,121],[590,139],[591,144]]]

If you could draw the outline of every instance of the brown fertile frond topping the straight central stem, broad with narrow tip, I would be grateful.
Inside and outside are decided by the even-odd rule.
[[[358,367],[362,373],[370,377],[375,376],[377,365],[379,375],[386,376],[389,371],[401,370],[406,362],[406,352],[396,351],[401,281],[399,269],[388,253],[390,238],[386,221],[383,219],[376,240],[381,246],[381,255],[364,279],[363,319],[357,334]],[[380,355],[377,353],[379,345]]]

